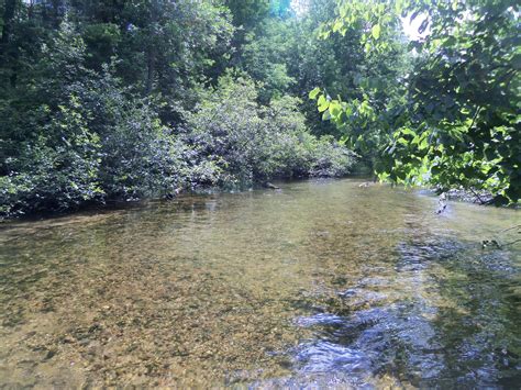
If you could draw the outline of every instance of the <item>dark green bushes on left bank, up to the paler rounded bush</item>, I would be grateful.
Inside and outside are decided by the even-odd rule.
[[[0,107],[1,212],[60,211],[171,190],[180,181],[179,156],[152,104],[125,93],[107,67],[87,69],[86,46],[68,25],[53,47],[37,82],[19,86]]]

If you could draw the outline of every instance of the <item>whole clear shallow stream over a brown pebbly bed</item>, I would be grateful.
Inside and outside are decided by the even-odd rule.
[[[520,211],[357,180],[0,226],[0,385],[521,382]]]

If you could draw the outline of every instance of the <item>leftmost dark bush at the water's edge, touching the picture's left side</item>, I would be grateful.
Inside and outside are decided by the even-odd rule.
[[[100,142],[71,97],[35,141],[24,142],[0,180],[1,214],[60,211],[100,198]]]

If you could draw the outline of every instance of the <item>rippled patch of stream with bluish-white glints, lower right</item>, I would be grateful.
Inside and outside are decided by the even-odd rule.
[[[496,337],[510,328],[514,342],[502,343],[516,349],[519,334],[494,313],[506,307],[498,299],[510,297],[519,268],[511,253],[477,247],[447,237],[400,243],[393,277],[363,277],[337,293],[341,303],[330,304],[334,312],[324,309],[296,321],[315,332],[295,352],[296,365],[303,372],[343,372],[361,382],[390,375],[418,387],[511,386],[520,379],[521,360],[498,349]],[[372,274],[369,268],[364,272]],[[447,296],[447,286],[457,294]],[[491,289],[502,290],[501,298]],[[507,308],[516,312],[516,305]],[[453,328],[452,321],[461,327]]]

